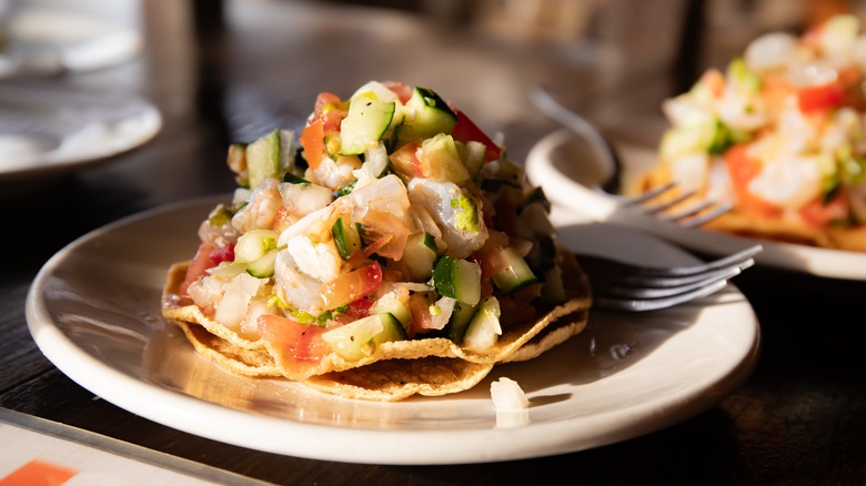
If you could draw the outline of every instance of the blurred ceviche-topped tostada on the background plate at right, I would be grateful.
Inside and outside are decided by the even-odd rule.
[[[631,192],[676,181],[733,204],[706,227],[866,251],[866,36],[838,16],[755,39],[667,100],[659,163]]]

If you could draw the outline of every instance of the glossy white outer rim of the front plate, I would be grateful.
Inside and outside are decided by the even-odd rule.
[[[607,434],[596,434],[592,441],[575,441],[573,435],[563,434],[564,426],[565,428],[571,427],[572,433],[575,426],[580,428],[582,422],[574,418],[566,419],[564,421],[565,423],[563,421],[547,421],[533,423],[526,427],[494,427],[472,429],[469,433],[457,433],[453,428],[346,428],[335,425],[308,424],[295,422],[291,418],[275,421],[271,416],[230,408],[147,383],[141,377],[130,376],[90,355],[56,325],[49,311],[43,305],[42,290],[46,281],[52,275],[52,271],[62,263],[63,259],[69,257],[77,247],[88,241],[99,239],[107,232],[121,231],[123,226],[137,221],[164,217],[168,213],[190,209],[193,205],[205,207],[205,204],[219,201],[218,198],[224,198],[224,195],[182,201],[123,217],[77,239],[49,259],[31,284],[26,304],[26,317],[31,336],[49,361],[71,379],[79,383],[79,385],[108,402],[157,423],[190,434],[281,455],[323,460],[392,465],[472,464],[524,459],[573,453],[634,438],[672,426],[704,412],[739,386],[751,375],[757,363],[762,343],[759,324],[751,304],[743,298],[741,303],[743,305],[742,311],[746,311],[752,317],[751,322],[744,324],[752,326],[752,342],[748,350],[741,350],[743,357],[732,369],[716,381],[703,383],[699,389],[692,392],[687,401],[677,403],[675,404],[676,406],[672,406],[669,403],[663,404],[666,407],[666,415],[663,417],[658,416],[658,404],[652,403],[641,403],[627,408],[596,415],[596,419],[612,423],[622,422],[624,417],[627,417],[631,423],[627,427],[614,427]],[[654,236],[644,236],[654,239]],[[684,257],[689,257],[682,250],[675,249],[658,239],[655,240],[659,244],[665,245],[665,247],[669,247],[671,251],[677,252],[677,254],[682,252],[685,255]],[[743,296],[738,290],[733,288],[735,295]],[[130,393],[130,391],[137,393]],[[152,399],[142,401],[141,396],[152,397]],[[151,407],[142,405],[148,403],[155,405]],[[384,406],[389,406],[389,404],[384,404]],[[204,424],[201,424],[201,417],[205,414],[220,418],[222,426],[207,427]],[[238,418],[238,414],[242,414],[243,419],[235,423],[232,418]],[[283,441],[262,443],[259,437],[244,429],[241,423],[253,423],[256,427],[269,427],[270,429],[279,431],[285,438]],[[340,435],[340,441],[336,441],[338,445],[335,445],[333,436],[334,431]],[[305,435],[306,437],[301,445],[292,442],[293,437],[298,435]],[[397,436],[401,438],[400,441],[395,441]],[[463,446],[460,448],[446,447],[447,444],[453,444],[455,436],[459,436]],[[538,436],[546,437],[547,442],[537,443]],[[383,444],[400,444],[384,448],[369,447],[367,444],[371,437],[376,439],[383,438],[379,441]],[[535,437],[534,441],[532,441],[533,437]],[[387,441],[384,441],[384,438],[387,438]],[[536,444],[533,447],[526,447],[523,439],[530,439]],[[296,438],[294,441],[296,442]],[[485,450],[484,447],[489,447],[491,443],[499,444],[499,448]],[[434,456],[427,454],[422,457],[423,453],[422,455],[417,453],[405,454],[406,450],[423,452],[425,447],[437,446],[439,455]],[[470,446],[477,447],[479,454],[466,456],[464,449]],[[383,457],[384,454],[389,453],[391,454],[390,456]]]

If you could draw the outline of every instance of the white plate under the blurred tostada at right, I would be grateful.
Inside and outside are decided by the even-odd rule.
[[[654,161],[654,152],[631,146],[622,152],[625,178]],[[590,139],[562,130],[541,141],[528,153],[526,172],[547,198],[570,211],[595,221],[641,229],[684,247],[712,255],[726,255],[755,244],[764,251],[755,257],[758,264],[812,275],[843,280],[866,280],[866,253],[825,250],[813,246],[775,243],[718,232],[686,229],[662,221],[598,189],[613,168],[601,149]]]

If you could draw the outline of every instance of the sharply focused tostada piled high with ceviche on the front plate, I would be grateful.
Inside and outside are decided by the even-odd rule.
[[[323,92],[300,133],[232,144],[228,165],[239,188],[170,270],[163,314],[233,373],[442,395],[586,323],[544,193],[433,90]]]

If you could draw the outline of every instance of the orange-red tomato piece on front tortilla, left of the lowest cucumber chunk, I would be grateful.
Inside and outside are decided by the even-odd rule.
[[[259,317],[259,334],[276,345],[284,363],[300,366],[316,364],[331,352],[322,341],[325,331],[315,324],[301,324],[279,315],[265,314]]]

